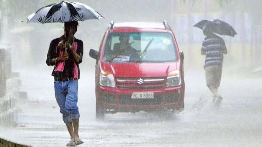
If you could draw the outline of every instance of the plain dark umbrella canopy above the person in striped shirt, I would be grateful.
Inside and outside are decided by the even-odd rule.
[[[226,23],[225,21],[221,21],[219,19],[215,19],[211,21],[205,19],[199,21],[194,26],[202,29],[203,31],[214,32],[220,35],[228,35],[234,37],[237,34],[236,31],[233,29],[233,27],[230,26],[230,24]]]

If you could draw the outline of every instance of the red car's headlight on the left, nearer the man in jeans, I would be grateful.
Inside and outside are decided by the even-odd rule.
[[[116,87],[116,84],[114,82],[114,76],[109,71],[101,70],[99,83],[101,86],[107,86],[113,88]]]

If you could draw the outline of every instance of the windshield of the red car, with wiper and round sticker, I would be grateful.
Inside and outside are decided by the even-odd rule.
[[[176,60],[173,37],[166,32],[110,33],[103,55],[103,61],[113,63]]]

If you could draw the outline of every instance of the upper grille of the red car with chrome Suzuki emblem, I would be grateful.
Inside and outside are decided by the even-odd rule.
[[[128,90],[162,89],[165,87],[165,77],[117,77],[117,88]]]

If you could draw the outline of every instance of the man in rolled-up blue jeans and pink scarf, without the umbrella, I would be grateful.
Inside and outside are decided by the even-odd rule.
[[[83,42],[74,37],[77,26],[77,21],[64,23],[65,34],[51,41],[46,59],[48,66],[54,66],[52,76],[54,76],[55,98],[71,137],[66,146],[83,143],[78,135],[77,106],[78,79],[80,78],[78,64],[82,62]]]

